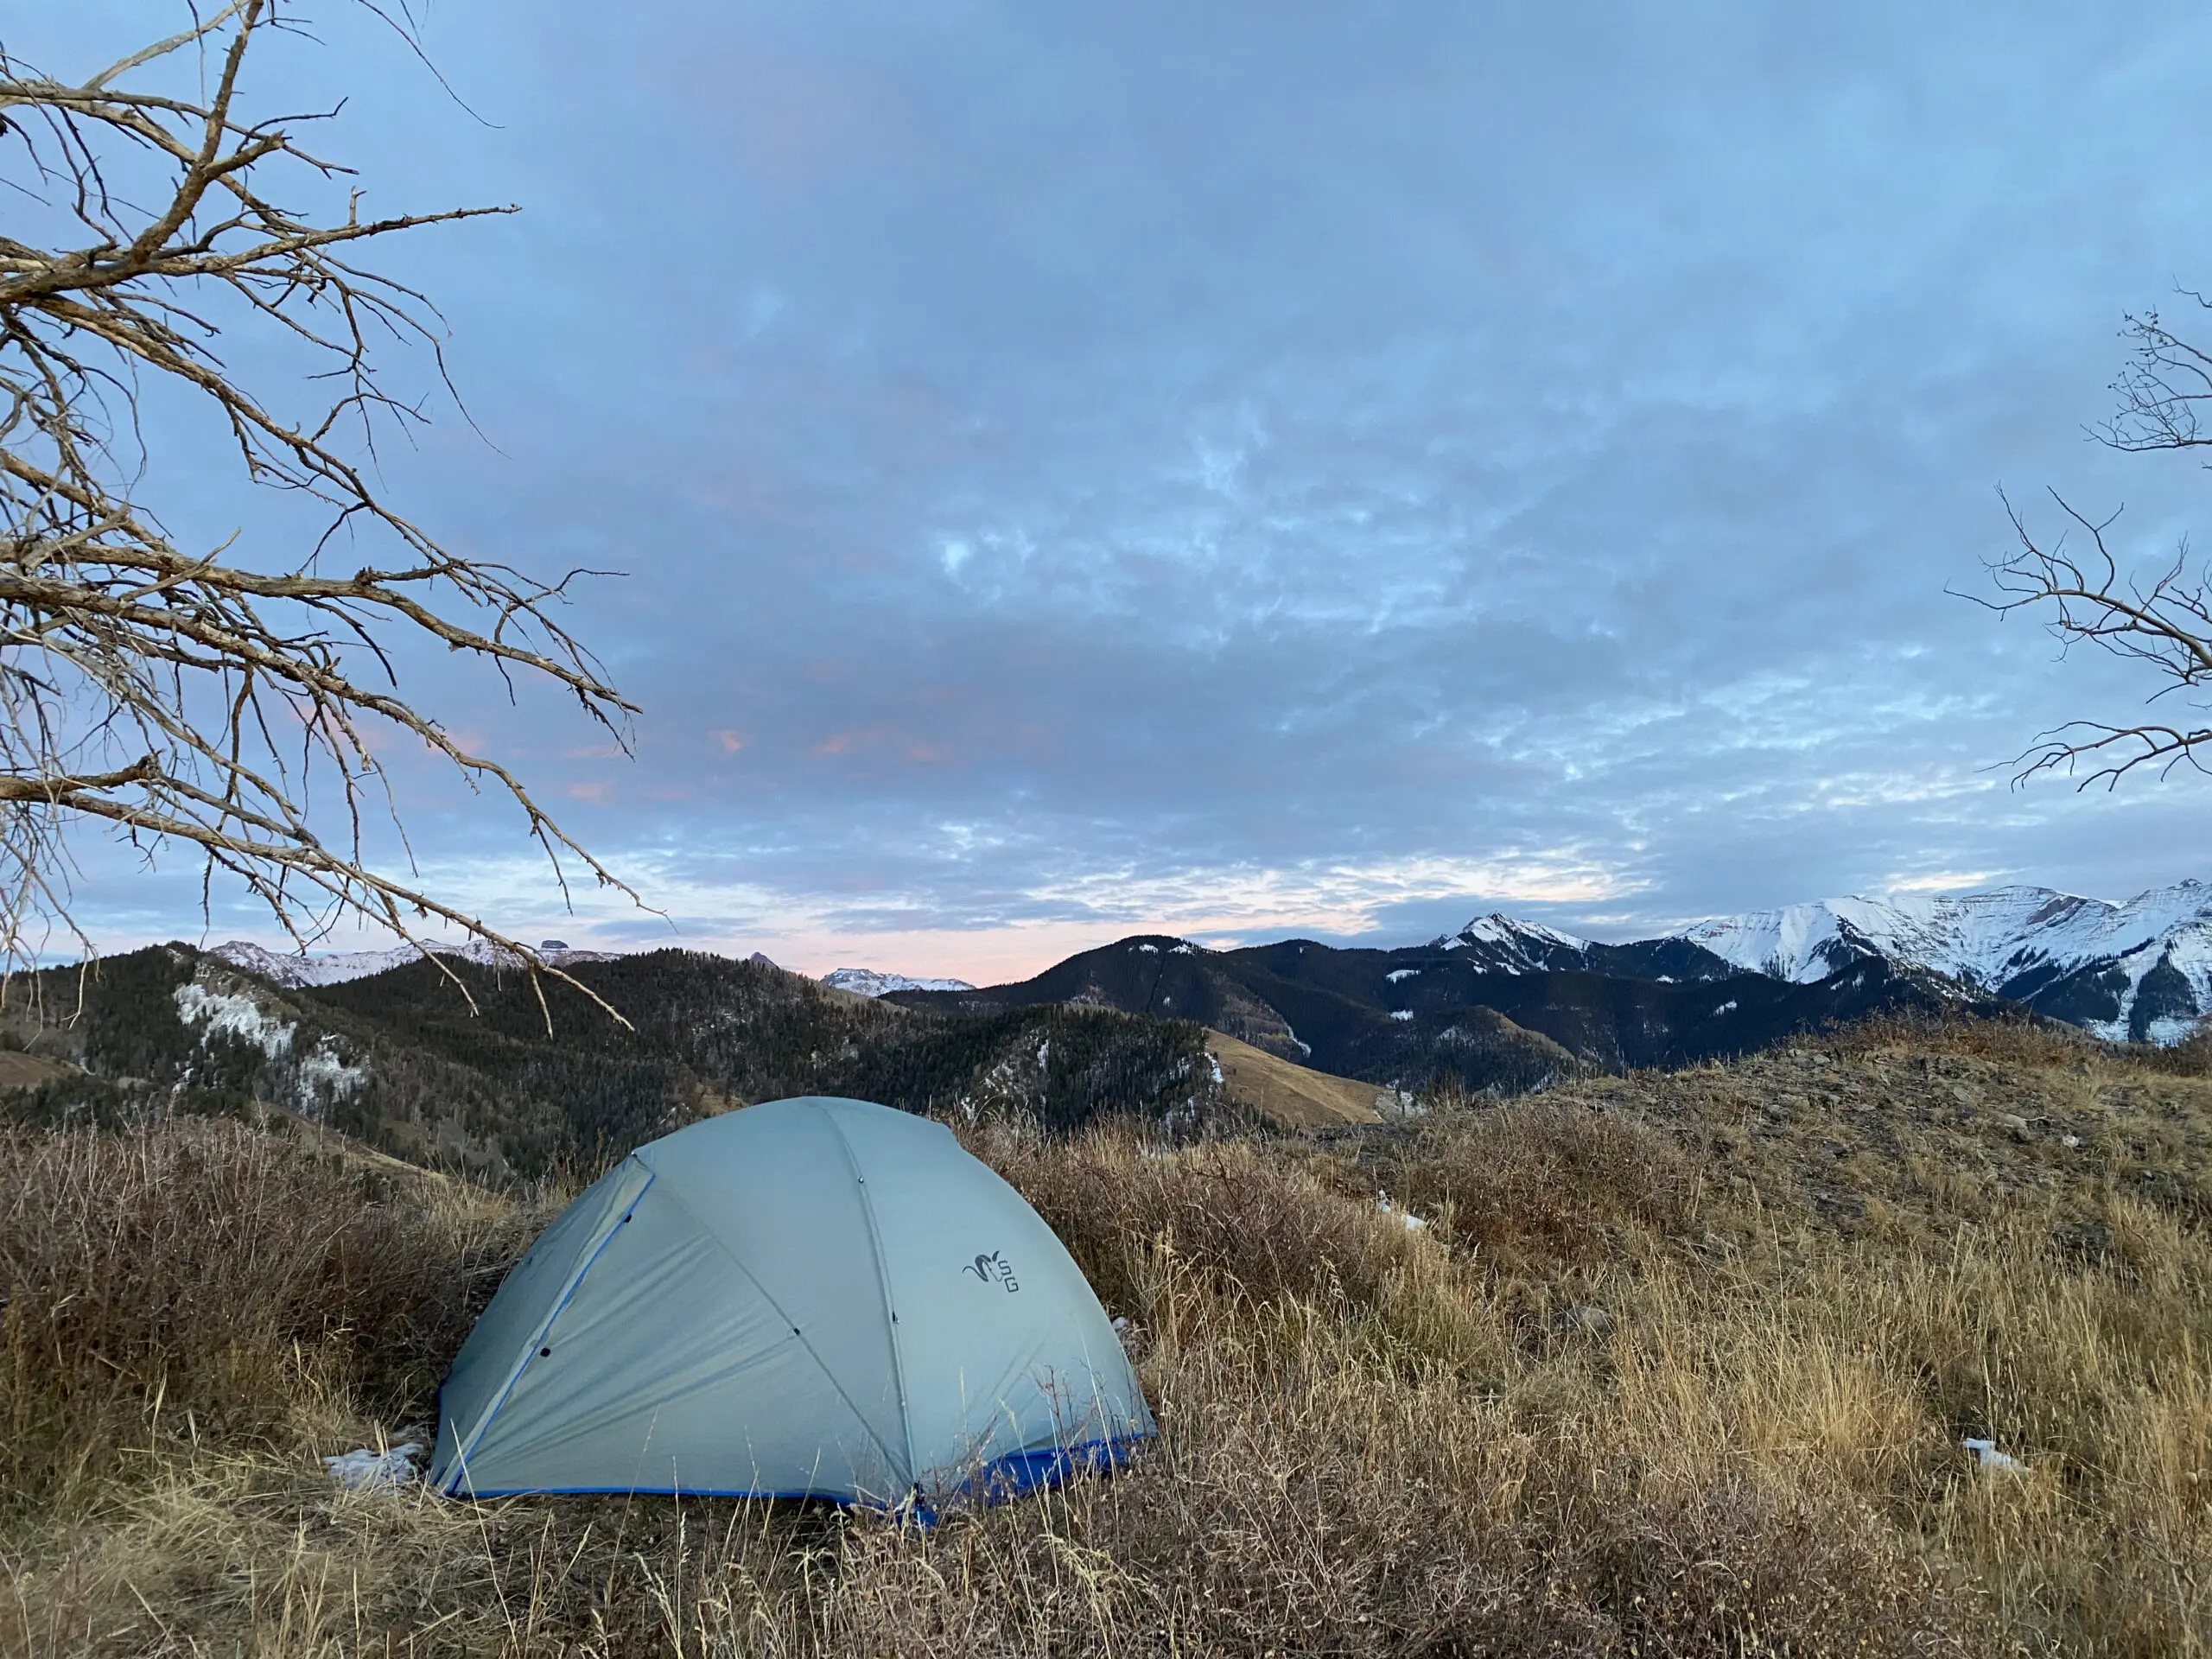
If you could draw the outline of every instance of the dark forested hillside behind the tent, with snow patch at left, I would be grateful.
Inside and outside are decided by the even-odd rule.
[[[0,1029],[20,1051],[0,1053],[0,1091],[18,1091],[15,1117],[46,1124],[274,1106],[493,1181],[593,1170],[699,1115],[781,1095],[1051,1130],[1130,1117],[1186,1135],[1237,1115],[1285,1126],[1316,1110],[1371,1115],[1376,1093],[1285,1064],[1223,1071],[1197,1024],[1097,1006],[945,1018],[768,962],[571,958],[624,1029],[566,987],[546,984],[540,1006],[518,973],[447,962],[476,1011],[422,960],[279,984],[175,945],[100,962],[82,1013],[75,973],[18,980]]]

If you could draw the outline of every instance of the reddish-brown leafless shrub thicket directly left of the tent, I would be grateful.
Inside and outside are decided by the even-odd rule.
[[[11,1495],[164,1418],[237,1442],[314,1391],[420,1413],[522,1241],[396,1179],[219,1119],[0,1128]]]

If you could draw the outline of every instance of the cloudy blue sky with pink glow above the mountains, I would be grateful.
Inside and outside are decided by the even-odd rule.
[[[62,75],[181,15],[51,11],[7,44]],[[522,208],[380,252],[469,414],[380,480],[456,551],[622,573],[566,619],[630,754],[403,677],[657,914],[564,909],[398,757],[425,880],[504,931],[993,982],[2212,878],[2212,783],[2013,785],[2154,684],[1966,597],[2000,489],[2124,507],[2146,564],[2212,515],[2090,438],[2124,316],[2212,285],[2201,7],[420,15],[436,75],[321,0],[250,91],[343,95],[316,144],[380,212]],[[285,562],[195,422],[150,436],[173,524]],[[80,858],[111,949],[276,940],[181,856]]]

